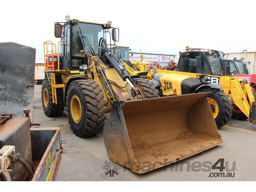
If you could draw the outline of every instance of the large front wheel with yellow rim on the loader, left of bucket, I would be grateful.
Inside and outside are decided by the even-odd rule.
[[[100,133],[106,119],[106,101],[93,80],[74,80],[67,92],[69,124],[78,137]]]

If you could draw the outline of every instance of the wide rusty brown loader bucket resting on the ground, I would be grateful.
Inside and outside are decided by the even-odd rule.
[[[115,101],[103,133],[110,160],[142,174],[221,144],[208,95]]]

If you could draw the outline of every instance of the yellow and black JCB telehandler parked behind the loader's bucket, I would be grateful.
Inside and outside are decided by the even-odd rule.
[[[173,82],[177,81],[177,79],[174,79],[172,75],[184,75],[184,80],[188,77],[200,79],[204,75],[207,78],[205,82],[220,86],[218,88],[213,87],[214,89],[211,90],[202,88],[196,90],[196,92],[211,92],[208,100],[218,127],[226,124],[231,117],[241,120],[249,118],[252,124],[256,124],[256,102],[250,85],[247,81],[234,77],[230,73],[230,66],[223,67],[220,54],[220,52],[215,50],[187,48],[187,51],[180,55],[177,71],[151,71],[148,73],[148,78],[155,79],[154,76],[156,75],[154,74],[156,73],[158,77],[162,76],[161,79]],[[165,74],[168,74],[169,77],[163,76]],[[229,74],[229,76],[224,76],[225,74]],[[178,87],[179,84],[180,81],[178,80]],[[160,93],[163,93],[163,95],[176,94],[177,89],[173,87],[173,89],[167,92],[162,90]],[[229,99],[223,93],[228,95]],[[183,93],[181,91],[178,94]],[[232,106],[229,104],[229,100]]]

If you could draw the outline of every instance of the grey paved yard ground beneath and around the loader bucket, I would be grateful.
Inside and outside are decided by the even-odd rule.
[[[65,149],[68,153],[62,154],[57,181],[256,180],[256,126],[248,121],[231,119],[219,130],[224,141],[221,145],[140,175],[109,161],[102,133],[91,138],[79,138],[71,131],[66,114],[57,118],[45,116],[42,111],[41,86],[35,86],[33,118],[34,122],[41,123],[41,127],[60,127],[62,140],[67,141]],[[212,168],[216,162],[215,168],[224,162],[225,169],[222,172]],[[117,173],[113,177],[105,174],[109,167],[113,167],[112,170]]]

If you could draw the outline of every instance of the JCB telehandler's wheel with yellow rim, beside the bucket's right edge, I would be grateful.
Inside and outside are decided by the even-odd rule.
[[[221,126],[225,125],[232,116],[231,101],[229,100],[229,97],[220,90],[204,89],[199,91],[199,93],[202,92],[211,93],[208,96],[208,101],[212,114],[214,115],[216,125],[219,129]]]

